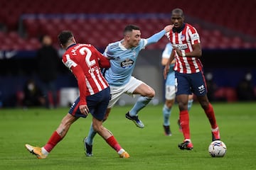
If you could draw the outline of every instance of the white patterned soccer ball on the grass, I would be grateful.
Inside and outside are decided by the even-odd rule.
[[[227,147],[221,140],[215,140],[210,143],[208,152],[211,157],[224,157],[227,152]]]

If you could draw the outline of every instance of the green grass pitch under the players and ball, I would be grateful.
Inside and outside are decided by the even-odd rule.
[[[118,154],[97,135],[93,157],[85,157],[82,138],[87,135],[91,115],[75,122],[67,136],[46,159],[26,151],[24,145],[43,146],[69,108],[0,110],[0,168],[1,169],[255,169],[256,103],[213,103],[220,127],[221,140],[228,147],[223,158],[208,154],[210,125],[198,103],[191,112],[193,151],[178,149],[183,135],[178,132],[178,106],[171,113],[171,137],[164,136],[162,105],[146,106],[139,118],[144,129],[137,128],[125,113],[131,106],[112,109],[105,127],[114,133],[119,144],[130,154],[120,159]]]

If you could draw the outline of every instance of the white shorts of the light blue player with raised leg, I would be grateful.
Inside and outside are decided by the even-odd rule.
[[[112,108],[114,104],[117,103],[122,94],[128,94],[132,96],[134,90],[143,83],[143,81],[136,79],[135,77],[131,77],[129,82],[124,86],[110,86],[111,99],[107,108]]]

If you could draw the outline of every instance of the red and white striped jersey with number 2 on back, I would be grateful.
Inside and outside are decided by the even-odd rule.
[[[70,45],[63,54],[63,63],[78,80],[81,104],[86,104],[86,96],[96,94],[109,86],[100,68],[109,68],[110,61],[92,45]]]

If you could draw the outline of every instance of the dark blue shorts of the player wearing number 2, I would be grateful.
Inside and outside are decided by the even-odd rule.
[[[86,115],[80,112],[78,103],[80,101],[80,97],[78,97],[73,105],[70,107],[71,115],[75,116],[76,118],[86,118]],[[107,105],[110,102],[110,87],[100,91],[97,94],[93,94],[91,96],[86,97],[87,107],[89,108],[90,113],[94,118],[97,120],[103,120],[106,114]]]

